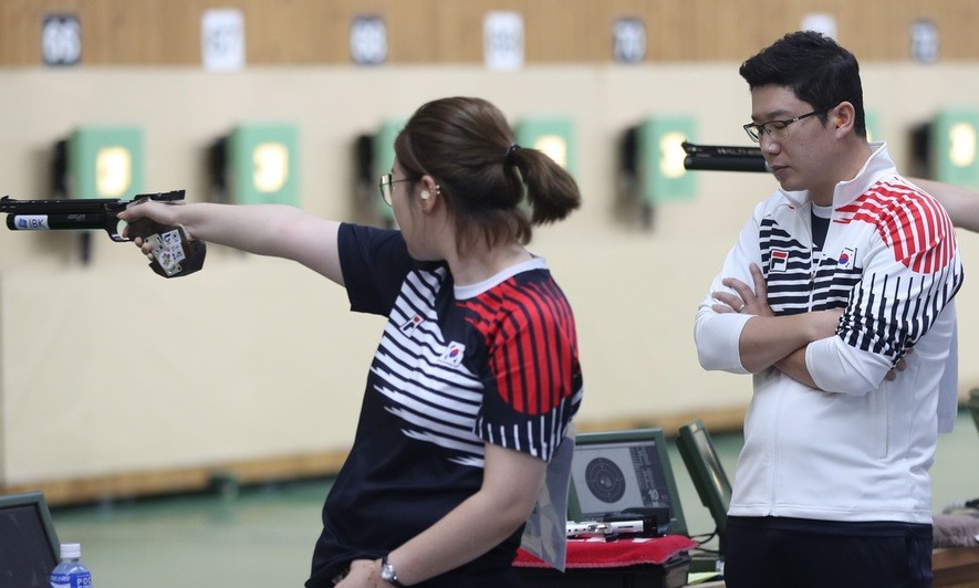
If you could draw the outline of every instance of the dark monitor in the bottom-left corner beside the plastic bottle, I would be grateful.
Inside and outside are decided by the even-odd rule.
[[[41,492],[0,496],[0,588],[48,588],[60,552]]]

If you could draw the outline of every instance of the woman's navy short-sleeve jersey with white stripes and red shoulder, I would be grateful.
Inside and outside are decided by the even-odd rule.
[[[352,309],[388,322],[308,586],[476,493],[485,443],[550,460],[582,393],[574,318],[543,260],[457,287],[445,264],[414,262],[398,231],[344,224],[339,239]],[[469,566],[509,566],[521,531]]]

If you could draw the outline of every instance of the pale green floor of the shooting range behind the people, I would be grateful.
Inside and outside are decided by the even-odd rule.
[[[738,434],[715,435],[729,476]],[[691,534],[714,528],[676,448],[670,460]],[[979,432],[962,411],[939,440],[934,510],[979,497]],[[329,480],[54,510],[59,538],[82,544],[97,588],[301,587],[320,532]]]

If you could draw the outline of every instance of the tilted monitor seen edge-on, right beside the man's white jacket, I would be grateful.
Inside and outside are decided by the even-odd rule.
[[[718,540],[722,552],[728,506],[731,503],[731,483],[718,459],[714,441],[699,419],[680,427],[677,449],[690,473],[700,502],[710,511],[710,516],[717,525]]]

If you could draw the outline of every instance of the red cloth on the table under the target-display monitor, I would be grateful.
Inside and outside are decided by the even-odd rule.
[[[611,542],[602,537],[567,539],[566,566],[567,568],[617,568],[639,564],[663,564],[697,545],[697,542],[683,535]],[[551,567],[523,549],[517,550],[513,565],[525,568]]]

